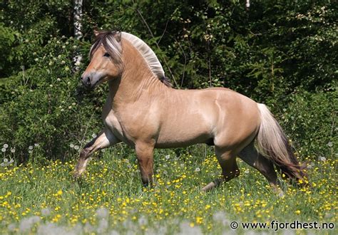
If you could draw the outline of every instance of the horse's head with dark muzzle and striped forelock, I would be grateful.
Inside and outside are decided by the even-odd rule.
[[[87,88],[121,77],[121,33],[94,31],[96,40],[91,46],[89,63],[81,80]]]

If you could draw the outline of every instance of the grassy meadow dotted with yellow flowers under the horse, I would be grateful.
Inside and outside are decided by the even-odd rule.
[[[195,149],[199,152],[181,151],[179,157],[174,150],[156,151],[153,188],[141,186],[133,152],[123,145],[94,156],[79,181],[72,177],[76,152],[68,162],[0,167],[0,234],[270,233],[273,229],[241,229],[241,223],[337,221],[336,160],[308,160],[312,187],[285,184],[285,197],[240,160],[240,177],[202,193],[220,167],[211,149]],[[231,221],[239,223],[237,230],[230,229]],[[337,229],[279,231],[337,234]]]

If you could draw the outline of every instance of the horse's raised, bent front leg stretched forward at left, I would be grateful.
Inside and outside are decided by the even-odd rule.
[[[97,137],[95,137],[91,142],[83,147],[80,153],[80,159],[78,160],[78,164],[75,167],[74,177],[80,177],[81,174],[85,171],[89,157],[96,152],[97,150],[102,150],[111,145],[115,145],[118,142],[121,142],[116,138],[113,133],[108,129],[103,129]]]

